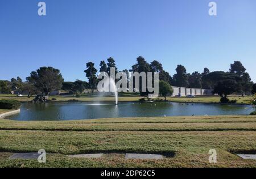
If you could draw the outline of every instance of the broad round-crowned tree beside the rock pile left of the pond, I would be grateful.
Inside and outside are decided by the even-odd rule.
[[[30,73],[27,81],[33,84],[42,96],[48,96],[51,91],[60,90],[64,80],[60,70],[53,67],[40,67]]]

